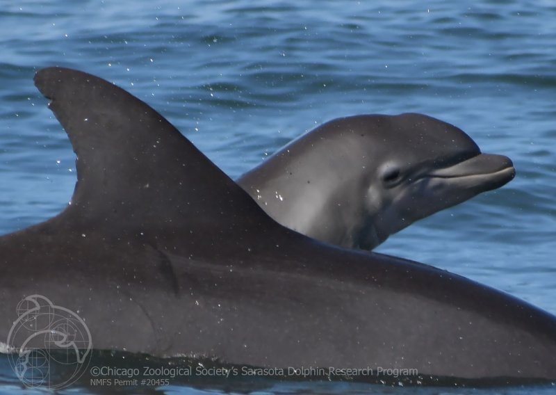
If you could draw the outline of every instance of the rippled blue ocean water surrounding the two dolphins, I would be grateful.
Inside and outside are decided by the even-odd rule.
[[[419,112],[464,129],[483,152],[512,158],[516,179],[411,225],[377,251],[445,268],[556,314],[553,1],[19,0],[2,4],[0,33],[0,234],[54,216],[74,188],[72,147],[33,86],[40,67],[73,67],[129,90],[231,177],[332,118]],[[0,384],[5,393],[21,388],[5,362]],[[156,390],[482,395],[553,388],[269,380]]]

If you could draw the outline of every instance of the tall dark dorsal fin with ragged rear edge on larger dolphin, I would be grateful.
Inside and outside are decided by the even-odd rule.
[[[104,79],[49,67],[35,85],[77,155],[72,220],[217,227],[270,220],[234,181],[140,99]]]

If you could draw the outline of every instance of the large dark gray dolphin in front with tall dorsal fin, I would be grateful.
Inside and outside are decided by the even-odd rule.
[[[112,83],[51,67],[35,84],[70,137],[77,184],[58,216],[0,238],[0,339],[19,301],[42,296],[79,314],[97,349],[556,380],[551,314],[432,266],[279,225]]]

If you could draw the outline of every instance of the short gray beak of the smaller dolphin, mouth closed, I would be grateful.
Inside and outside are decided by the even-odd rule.
[[[479,154],[454,166],[434,170],[427,177],[458,179],[468,188],[491,191],[507,184],[515,175],[514,163],[507,156]]]

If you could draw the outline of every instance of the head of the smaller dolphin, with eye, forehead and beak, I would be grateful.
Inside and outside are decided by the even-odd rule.
[[[375,126],[368,130],[369,161],[380,164],[361,180],[365,207],[355,247],[373,248],[416,220],[499,188],[515,175],[509,158],[483,154],[464,131],[426,115],[363,123]]]

